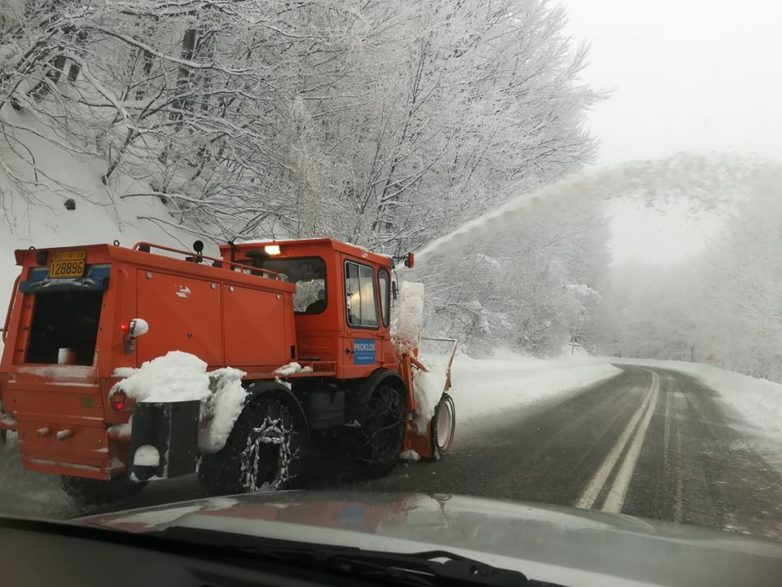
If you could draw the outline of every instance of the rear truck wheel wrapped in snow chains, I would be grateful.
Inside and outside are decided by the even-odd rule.
[[[201,458],[201,489],[206,495],[225,495],[291,488],[303,457],[299,428],[290,407],[278,397],[247,404],[225,447]]]

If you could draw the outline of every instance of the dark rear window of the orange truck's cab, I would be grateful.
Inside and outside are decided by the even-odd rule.
[[[296,285],[293,308],[297,314],[320,314],[326,310],[326,262],[320,257],[274,257],[249,255],[249,264],[282,273]]]

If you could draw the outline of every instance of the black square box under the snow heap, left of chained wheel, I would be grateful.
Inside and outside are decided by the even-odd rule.
[[[196,472],[200,409],[200,401],[136,404],[130,437],[131,479],[167,479]]]

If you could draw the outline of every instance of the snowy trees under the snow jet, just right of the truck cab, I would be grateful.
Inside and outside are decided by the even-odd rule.
[[[591,348],[608,265],[608,226],[593,204],[545,201],[427,255],[411,278],[427,286],[430,332],[473,353],[504,344],[546,356],[572,337]]]

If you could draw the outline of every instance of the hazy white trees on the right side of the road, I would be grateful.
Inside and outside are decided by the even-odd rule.
[[[715,200],[740,197],[705,252],[611,272],[591,328],[601,352],[708,361],[782,381],[782,170],[757,161],[736,169],[712,178],[723,183]],[[708,198],[695,189],[691,200]]]

